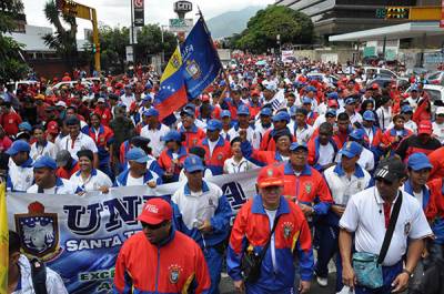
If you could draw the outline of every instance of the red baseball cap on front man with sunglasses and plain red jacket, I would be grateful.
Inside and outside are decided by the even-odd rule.
[[[153,197],[145,202],[138,221],[147,224],[157,225],[163,221],[169,221],[173,216],[170,203],[161,197]]]

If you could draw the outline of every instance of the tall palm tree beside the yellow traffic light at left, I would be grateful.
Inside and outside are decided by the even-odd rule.
[[[65,59],[71,68],[75,67],[78,59],[75,17],[60,13],[54,0],[48,1],[43,11],[49,22],[56,27],[53,34],[48,33],[42,37],[44,43]],[[70,26],[69,29],[62,26],[62,20]]]

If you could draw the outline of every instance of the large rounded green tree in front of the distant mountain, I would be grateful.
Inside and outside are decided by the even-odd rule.
[[[311,43],[313,22],[299,11],[281,6],[269,6],[252,17],[240,38],[234,37],[234,48],[255,53],[278,48],[276,37],[281,43]]]

